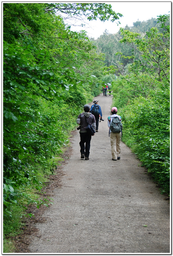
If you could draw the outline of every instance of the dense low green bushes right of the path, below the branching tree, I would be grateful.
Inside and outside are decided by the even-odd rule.
[[[170,183],[170,103],[169,92],[153,98],[142,96],[121,109],[123,141],[138,155],[143,165],[169,193]]]

